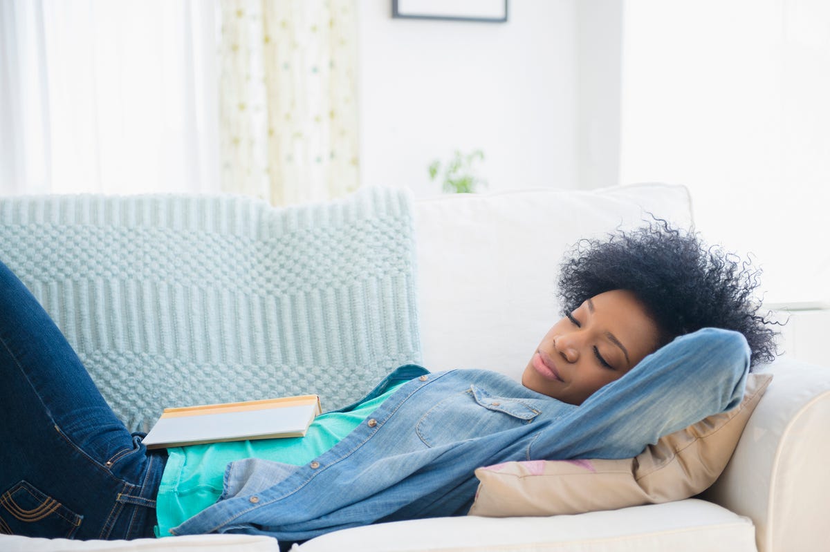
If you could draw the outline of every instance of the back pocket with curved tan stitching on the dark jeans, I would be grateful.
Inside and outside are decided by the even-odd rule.
[[[83,516],[22,481],[0,496],[0,533],[71,539]]]

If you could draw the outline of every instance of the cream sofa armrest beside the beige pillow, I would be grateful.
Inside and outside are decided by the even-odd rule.
[[[715,485],[702,497],[754,521],[759,552],[823,550],[830,524],[830,367],[785,357]]]

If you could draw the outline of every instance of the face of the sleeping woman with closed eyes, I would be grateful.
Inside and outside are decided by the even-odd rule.
[[[600,293],[545,334],[521,382],[569,404],[582,404],[657,350],[657,324],[633,293]]]

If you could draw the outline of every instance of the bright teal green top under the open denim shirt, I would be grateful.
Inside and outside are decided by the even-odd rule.
[[[262,458],[300,466],[334,447],[372,414],[398,389],[402,382],[374,399],[361,402],[349,412],[329,412],[317,416],[305,437],[259,439],[210,443],[168,448],[167,464],[156,499],[156,536],[214,504],[222,494],[222,480],[228,462],[243,458]]]

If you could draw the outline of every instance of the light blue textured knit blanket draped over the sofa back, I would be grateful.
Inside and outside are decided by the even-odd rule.
[[[131,430],[167,406],[360,398],[420,360],[404,191],[0,200],[0,259]]]

